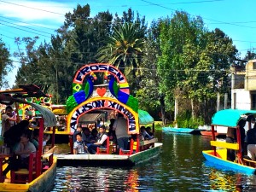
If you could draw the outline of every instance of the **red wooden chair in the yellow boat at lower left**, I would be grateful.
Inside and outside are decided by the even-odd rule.
[[[29,155],[28,169],[20,169],[11,171],[11,183],[30,183],[36,177],[37,170],[37,154]]]

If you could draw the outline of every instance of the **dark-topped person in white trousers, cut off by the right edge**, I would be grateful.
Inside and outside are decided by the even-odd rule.
[[[247,131],[247,155],[251,160],[256,160],[256,124]]]

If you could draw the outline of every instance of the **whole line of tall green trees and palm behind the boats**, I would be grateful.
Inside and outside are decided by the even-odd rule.
[[[90,5],[78,4],[65,15],[50,42],[36,46],[38,37],[15,38],[20,68],[18,84],[37,84],[53,101],[65,104],[72,95],[75,72],[84,64],[107,62],[125,73],[139,108],[163,123],[180,126],[209,124],[216,112],[217,93],[230,94],[230,67],[239,58],[233,41],[216,28],[209,31],[200,16],[176,11],[152,21],[128,9],[90,16]],[[25,50],[20,48],[25,47]],[[0,39],[0,86],[12,68],[9,50]],[[253,59],[248,51],[244,59]],[[241,64],[241,67],[244,65]]]

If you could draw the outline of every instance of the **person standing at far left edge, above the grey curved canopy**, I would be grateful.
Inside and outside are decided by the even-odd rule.
[[[15,125],[16,118],[13,117],[13,108],[10,106],[7,106],[5,108],[5,113],[2,115],[2,131],[1,136],[9,130],[9,128],[13,125]]]

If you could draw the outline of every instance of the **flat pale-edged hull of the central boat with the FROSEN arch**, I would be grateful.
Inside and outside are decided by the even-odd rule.
[[[58,166],[134,166],[160,154],[162,143],[154,143],[154,148],[131,155],[119,154],[56,154]]]

